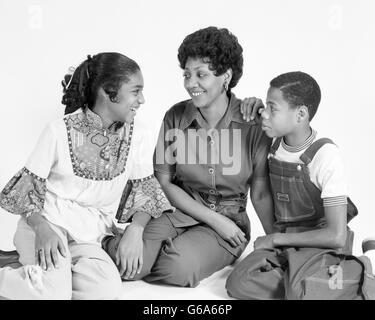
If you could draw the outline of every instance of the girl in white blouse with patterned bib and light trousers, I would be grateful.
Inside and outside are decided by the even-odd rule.
[[[101,241],[116,232],[127,181],[138,188],[117,215],[132,218],[117,252],[121,272],[141,269],[143,228],[170,208],[151,157],[142,161],[148,148],[134,124],[144,103],[138,64],[119,53],[88,56],[63,86],[64,118],[45,128],[0,195],[1,207],[20,215],[14,244],[23,265],[0,269],[3,298],[117,298],[121,278]]]

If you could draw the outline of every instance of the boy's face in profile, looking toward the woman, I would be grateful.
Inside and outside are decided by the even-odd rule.
[[[262,112],[262,130],[270,138],[288,135],[297,125],[297,110],[289,106],[280,89],[270,87]]]

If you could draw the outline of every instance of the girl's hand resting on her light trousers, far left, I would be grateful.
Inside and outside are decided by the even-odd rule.
[[[66,257],[66,249],[62,239],[44,218],[35,223],[33,229],[35,231],[36,264],[47,271],[59,268],[58,253]]]

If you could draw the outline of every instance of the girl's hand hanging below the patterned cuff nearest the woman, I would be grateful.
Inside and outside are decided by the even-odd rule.
[[[116,265],[120,266],[120,276],[132,279],[143,266],[143,227],[131,223],[124,231],[116,251]],[[124,275],[125,273],[125,275]]]

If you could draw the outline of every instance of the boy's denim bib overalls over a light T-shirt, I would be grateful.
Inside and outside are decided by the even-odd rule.
[[[321,191],[310,180],[308,164],[324,144],[333,142],[327,138],[315,141],[300,156],[303,163],[275,159],[280,142],[281,138],[275,140],[269,154],[275,227],[282,233],[325,227]],[[358,211],[349,198],[347,208],[349,222]],[[255,250],[229,276],[228,294],[239,299],[364,299],[371,295],[375,298],[369,260],[352,256],[352,244],[353,232],[348,228],[346,245],[340,250]]]

